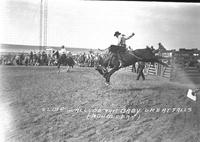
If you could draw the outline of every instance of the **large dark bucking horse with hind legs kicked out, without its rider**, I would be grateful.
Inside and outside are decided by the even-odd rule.
[[[120,69],[120,63],[117,56],[118,52],[120,53],[121,59],[125,64],[124,67],[134,65],[138,61],[151,63],[157,62],[167,66],[167,64],[163,63],[155,56],[155,52],[150,48],[129,51],[120,46],[111,45],[108,50],[109,53],[105,55],[104,58],[101,58],[101,64],[96,67],[96,70],[106,79],[107,85],[110,84],[111,75]],[[111,70],[108,71],[107,67],[111,67]]]

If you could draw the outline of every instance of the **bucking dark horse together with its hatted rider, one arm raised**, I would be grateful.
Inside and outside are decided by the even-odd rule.
[[[110,84],[110,77],[113,73],[118,71],[120,68],[127,67],[129,65],[135,65],[136,62],[140,62],[141,65],[143,65],[143,62],[157,62],[164,66],[168,66],[155,56],[155,52],[157,51],[154,51],[153,47],[145,49],[128,50],[126,41],[132,38],[134,35],[135,34],[132,33],[130,36],[126,37],[119,31],[116,31],[114,33],[114,36],[118,39],[118,44],[111,45],[108,47],[108,56],[105,56],[102,63],[96,67],[96,70],[106,79],[107,85]],[[111,67],[111,70],[108,71],[107,67]],[[141,70],[143,70],[142,66]],[[140,72],[140,76],[143,77],[142,72]]]

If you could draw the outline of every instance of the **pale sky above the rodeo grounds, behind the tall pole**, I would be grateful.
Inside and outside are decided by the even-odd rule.
[[[40,0],[1,1],[1,43],[39,45]],[[48,0],[48,46],[105,49],[115,31],[133,49],[200,49],[200,4]]]

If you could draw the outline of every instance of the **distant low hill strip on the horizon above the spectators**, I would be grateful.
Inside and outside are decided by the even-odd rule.
[[[47,48],[52,48],[54,50],[60,50],[61,47],[56,46],[47,46]],[[73,54],[79,53],[88,53],[91,49],[86,48],[74,48],[74,47],[66,47],[68,51],[72,52]],[[0,53],[29,53],[31,51],[39,51],[39,46],[34,45],[19,45],[19,44],[0,44]],[[93,51],[97,51],[97,49],[92,49]]]

